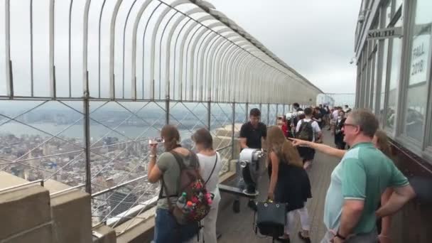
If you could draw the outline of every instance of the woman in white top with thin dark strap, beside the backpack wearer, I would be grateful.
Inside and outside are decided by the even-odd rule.
[[[220,193],[217,184],[219,183],[219,172],[222,168],[220,154],[213,149],[213,138],[207,129],[198,129],[192,136],[195,142],[195,148],[198,151],[197,156],[200,161],[200,173],[203,180],[207,181],[206,188],[209,193],[215,195],[213,198],[210,212],[201,221],[204,227],[202,230],[205,243],[216,243],[216,219],[217,207],[220,202]]]

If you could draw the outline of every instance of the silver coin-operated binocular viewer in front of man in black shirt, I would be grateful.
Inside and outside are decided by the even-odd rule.
[[[243,193],[246,195],[258,195],[258,183],[264,173],[265,166],[264,150],[258,148],[244,148],[240,152],[239,165],[242,168],[244,184]]]

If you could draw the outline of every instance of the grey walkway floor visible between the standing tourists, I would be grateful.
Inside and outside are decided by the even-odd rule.
[[[324,142],[330,146],[334,145],[333,136],[328,131],[324,131]],[[330,174],[338,162],[337,158],[326,156],[323,153],[316,153],[313,167],[308,172],[313,196],[307,203],[311,220],[312,242],[320,242],[325,233],[325,226],[323,225],[325,193],[327,193],[327,188],[330,184]],[[269,178],[263,176],[259,185],[259,200],[266,198],[268,186]],[[222,193],[223,197],[228,198],[230,195]],[[238,214],[232,211],[231,203],[221,205],[222,208],[217,220],[217,231],[222,234],[222,237],[220,237],[218,242],[271,242],[271,238],[260,238],[255,234],[253,227],[254,213],[247,207],[247,199],[240,200],[240,203],[241,211]],[[297,236],[297,232],[301,228],[299,218],[295,228],[295,231],[291,232],[291,242],[303,242]]]

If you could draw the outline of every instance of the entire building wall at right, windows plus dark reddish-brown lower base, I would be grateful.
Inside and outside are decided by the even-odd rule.
[[[432,190],[432,1],[363,1],[357,24],[356,107],[371,109],[392,141],[394,162],[414,190]],[[377,28],[402,37],[368,40]],[[419,187],[414,181],[421,178]],[[418,194],[419,195],[419,194]],[[392,242],[432,242],[431,199],[418,196],[392,220]]]

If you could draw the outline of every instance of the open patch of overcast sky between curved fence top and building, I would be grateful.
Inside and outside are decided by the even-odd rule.
[[[210,0],[324,92],[355,92],[361,0]]]

